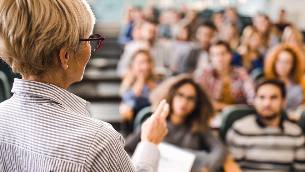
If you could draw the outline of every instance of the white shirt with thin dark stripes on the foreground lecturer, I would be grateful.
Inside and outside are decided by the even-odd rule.
[[[0,172],[156,171],[159,151],[138,145],[135,166],[123,137],[89,117],[89,102],[42,82],[15,79],[0,103]]]

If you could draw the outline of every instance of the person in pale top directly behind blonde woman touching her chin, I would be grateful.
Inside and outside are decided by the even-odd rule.
[[[145,49],[150,52],[155,62],[155,70],[158,70],[159,73],[167,74],[166,67],[169,66],[172,54],[168,47],[164,46],[162,42],[155,38],[157,23],[153,20],[146,20],[140,27],[142,40],[135,40],[128,44],[128,46],[125,46],[117,66],[118,76],[123,78],[126,75],[128,64],[133,54],[140,49]]]

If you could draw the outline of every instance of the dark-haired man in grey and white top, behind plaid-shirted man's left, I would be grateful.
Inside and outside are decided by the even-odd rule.
[[[180,62],[180,73],[192,73],[197,68],[207,68],[210,65],[208,47],[215,35],[216,28],[212,23],[206,22],[197,29],[198,47],[190,50],[189,54]]]

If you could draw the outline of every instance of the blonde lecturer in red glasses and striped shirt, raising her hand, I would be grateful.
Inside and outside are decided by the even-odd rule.
[[[0,103],[0,171],[157,171],[165,100],[143,123],[133,164],[123,137],[66,90],[104,40],[86,1],[0,1],[0,16],[0,57],[22,75]]]

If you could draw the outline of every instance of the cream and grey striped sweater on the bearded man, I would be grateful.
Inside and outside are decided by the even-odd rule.
[[[248,115],[233,123],[226,139],[244,171],[305,171],[305,137],[288,120],[269,127],[257,115]]]

